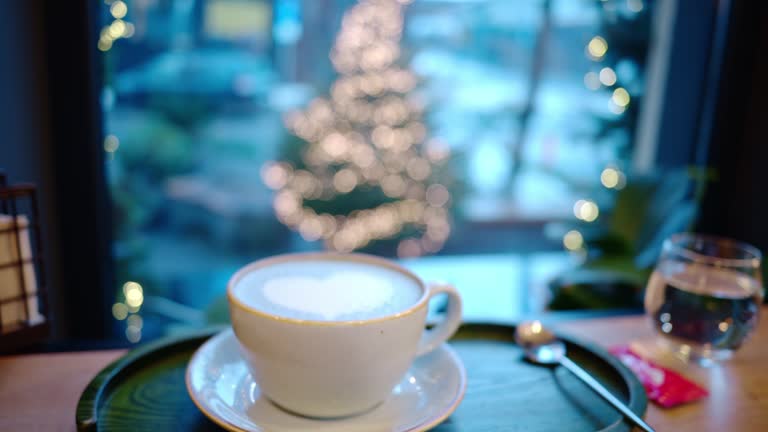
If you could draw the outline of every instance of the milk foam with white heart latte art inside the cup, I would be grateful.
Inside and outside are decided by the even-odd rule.
[[[255,309],[296,319],[348,321],[392,315],[421,297],[410,277],[370,264],[302,261],[245,275],[233,294]]]

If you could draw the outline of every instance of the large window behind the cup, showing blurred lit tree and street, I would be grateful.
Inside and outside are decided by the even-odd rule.
[[[470,314],[540,309],[584,242],[544,226],[626,185],[651,6],[107,0],[115,328],[199,325],[241,265],[323,248],[493,263],[515,281]]]

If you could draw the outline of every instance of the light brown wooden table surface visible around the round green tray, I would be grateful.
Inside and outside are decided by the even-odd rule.
[[[763,310],[763,316],[768,310]],[[564,333],[611,346],[651,336],[639,316],[560,323]],[[642,348],[642,343],[639,344]],[[124,351],[0,357],[0,430],[75,431],[75,407],[90,379]],[[669,363],[669,359],[660,359]],[[678,365],[679,366],[679,365]],[[768,320],[730,362],[683,372],[710,390],[700,402],[673,409],[649,405],[658,431],[768,431]]]

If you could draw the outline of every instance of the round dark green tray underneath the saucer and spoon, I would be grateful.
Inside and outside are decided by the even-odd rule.
[[[192,403],[184,373],[192,353],[219,329],[160,340],[101,371],[77,406],[79,431],[217,431]],[[464,324],[451,340],[467,369],[463,402],[434,430],[629,431],[629,423],[562,367],[523,360],[514,327]],[[564,338],[568,355],[642,415],[647,398],[632,373],[604,350]]]

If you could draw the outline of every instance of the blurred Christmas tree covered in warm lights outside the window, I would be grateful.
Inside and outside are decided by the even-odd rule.
[[[449,151],[427,140],[416,76],[397,65],[408,0],[360,0],[331,51],[329,98],[286,116],[285,160],[263,167],[278,219],[308,241],[399,256],[439,250],[450,233]]]

